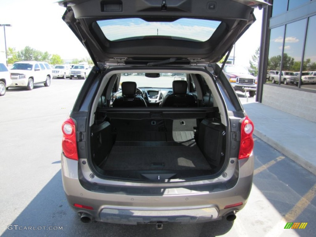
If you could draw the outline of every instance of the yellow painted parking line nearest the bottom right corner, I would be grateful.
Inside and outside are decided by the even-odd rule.
[[[316,184],[298,201],[295,206],[284,216],[287,222],[293,222],[310,204],[316,196]]]

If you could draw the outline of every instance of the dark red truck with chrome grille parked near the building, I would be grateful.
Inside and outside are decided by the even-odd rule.
[[[249,91],[249,96],[254,97],[257,91],[257,77],[251,75],[243,66],[227,64],[224,72],[235,91]]]

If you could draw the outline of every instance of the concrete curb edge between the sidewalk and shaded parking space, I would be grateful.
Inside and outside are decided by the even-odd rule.
[[[274,149],[278,150],[279,152],[283,153],[284,155],[288,156],[292,161],[299,164],[304,169],[308,170],[309,172],[316,175],[316,166],[311,164],[310,162],[306,161],[303,157],[295,154],[294,152],[290,151],[289,149],[283,147],[280,143],[276,142],[275,140],[267,137],[265,134],[258,130],[254,130],[253,134],[257,137],[259,137],[262,141],[265,143],[268,143],[270,146],[272,146]]]

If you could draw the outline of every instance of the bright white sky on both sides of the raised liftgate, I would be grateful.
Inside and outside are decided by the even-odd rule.
[[[0,24],[6,27],[7,47],[21,50],[30,46],[64,60],[85,58],[88,53],[61,19],[65,8],[51,0],[0,0]],[[255,9],[257,21],[237,41],[235,64],[249,65],[249,59],[260,45],[262,11]],[[0,60],[4,58],[3,27],[0,27]]]

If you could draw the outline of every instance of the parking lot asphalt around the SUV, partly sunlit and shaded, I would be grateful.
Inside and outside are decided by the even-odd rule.
[[[13,88],[0,98],[2,236],[314,236],[315,175],[258,137],[252,192],[234,222],[164,224],[162,230],[150,224],[82,223],[65,199],[60,153],[61,124],[83,82],[53,79],[48,88]],[[308,224],[284,229],[287,222]]]

